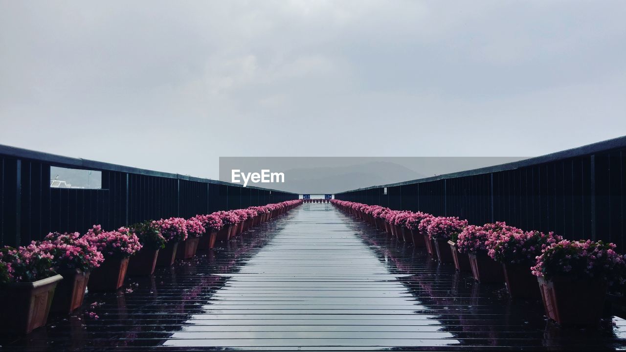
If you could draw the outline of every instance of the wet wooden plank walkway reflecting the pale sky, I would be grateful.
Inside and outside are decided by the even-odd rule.
[[[626,348],[622,319],[555,327],[540,303],[511,301],[331,204],[301,205],[125,288],[89,294],[84,309],[24,338],[3,336],[0,350]]]

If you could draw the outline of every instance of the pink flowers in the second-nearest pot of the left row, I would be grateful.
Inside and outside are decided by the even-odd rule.
[[[51,232],[39,244],[39,249],[53,257],[52,265],[57,270],[79,269],[88,272],[105,260],[98,248],[78,232]]]

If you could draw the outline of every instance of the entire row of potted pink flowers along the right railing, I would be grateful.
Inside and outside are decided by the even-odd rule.
[[[568,241],[505,222],[478,226],[458,217],[332,203],[391,236],[426,247],[439,262],[471,271],[476,281],[506,282],[512,298],[541,298],[548,318],[560,324],[597,323],[608,287],[625,282],[626,257],[612,243]]]

